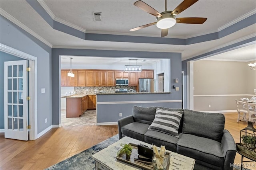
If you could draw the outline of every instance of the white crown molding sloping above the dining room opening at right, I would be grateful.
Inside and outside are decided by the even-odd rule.
[[[230,41],[230,42],[228,42],[228,43],[225,43],[225,44],[223,44],[223,45],[219,45],[219,46],[217,46],[217,47],[215,47],[215,48],[212,48],[212,49],[208,49],[207,51],[203,51],[203,52],[201,52],[201,53],[198,53],[198,54],[196,54],[196,55],[193,55],[192,57],[186,57],[186,58],[182,59],[182,61],[191,59],[191,58],[196,57],[196,56],[199,56],[199,55],[203,55],[203,54],[205,54],[205,53],[209,53],[209,52],[214,51],[214,50],[221,49],[221,48],[223,48],[223,47],[227,47],[228,45],[232,45],[232,44],[238,43],[238,42],[240,42],[240,41],[244,41],[244,40],[246,40],[246,39],[250,39],[250,38],[252,38],[252,37],[256,37],[256,33],[252,33],[251,35],[242,37],[242,38],[240,38],[240,39],[236,39],[236,40],[234,40],[234,41]],[[256,42],[254,42],[254,43],[256,43]],[[245,46],[246,46],[246,45],[245,45]],[[229,49],[229,50],[233,50],[233,49],[235,49],[235,48],[232,48],[232,49]],[[213,56],[213,55],[217,55],[217,54],[220,54],[220,53],[223,53],[223,52],[214,53],[214,54],[211,54],[211,55],[209,55],[209,56],[207,56],[207,57],[211,57],[211,56]],[[206,57],[206,56],[205,56],[205,57]],[[198,60],[199,60],[199,59],[198,59]]]

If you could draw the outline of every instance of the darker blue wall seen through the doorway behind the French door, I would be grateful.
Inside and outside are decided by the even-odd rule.
[[[0,72],[4,72],[5,61],[24,60],[0,51]],[[0,74],[0,129],[4,129],[4,74]]]

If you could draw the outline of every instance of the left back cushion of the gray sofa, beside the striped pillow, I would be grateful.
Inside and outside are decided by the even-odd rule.
[[[150,125],[155,118],[156,107],[133,106],[132,114],[134,121]]]

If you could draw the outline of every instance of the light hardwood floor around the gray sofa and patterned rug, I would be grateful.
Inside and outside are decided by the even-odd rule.
[[[240,142],[240,130],[247,123],[236,122],[237,113],[225,117],[225,129]],[[0,133],[0,170],[43,170],[116,134],[117,125],[53,128],[35,141],[5,139]],[[239,154],[234,162],[241,163]]]

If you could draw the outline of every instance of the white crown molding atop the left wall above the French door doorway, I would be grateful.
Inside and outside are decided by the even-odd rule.
[[[8,14],[6,11],[4,11],[2,8],[0,8],[0,15],[4,16],[6,19],[10,20],[11,22],[15,23],[16,25],[18,25],[20,28],[24,29],[25,31],[27,31],[28,33],[30,33],[31,35],[33,35],[34,37],[36,37],[37,39],[39,39],[40,41],[42,41],[43,43],[45,43],[46,45],[48,45],[49,47],[52,48],[52,44],[49,43],[48,41],[46,41],[46,39],[42,38],[40,35],[38,35],[37,33],[35,33],[34,31],[32,31],[30,28],[28,28],[26,25],[24,25],[23,23],[21,23],[20,21],[16,20],[16,18],[14,18],[13,16],[11,16],[10,14]]]

